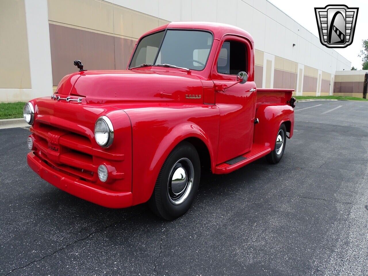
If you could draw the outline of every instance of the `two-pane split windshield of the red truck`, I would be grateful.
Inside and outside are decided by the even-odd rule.
[[[163,39],[163,41],[162,41]],[[212,46],[206,31],[167,30],[144,37],[138,44],[129,68],[141,64],[170,64],[203,70]]]

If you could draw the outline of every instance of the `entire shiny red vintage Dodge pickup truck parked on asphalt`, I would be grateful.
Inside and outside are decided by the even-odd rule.
[[[149,201],[175,219],[194,201],[201,170],[277,163],[293,135],[293,90],[256,89],[254,41],[234,26],[172,22],[137,41],[127,70],[75,65],[51,97],[24,107],[27,162],[95,204]]]

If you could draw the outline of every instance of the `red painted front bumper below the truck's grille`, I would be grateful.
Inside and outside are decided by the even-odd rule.
[[[27,163],[41,178],[69,194],[108,208],[132,206],[131,192],[116,192],[89,183],[53,169],[33,152],[27,155]]]

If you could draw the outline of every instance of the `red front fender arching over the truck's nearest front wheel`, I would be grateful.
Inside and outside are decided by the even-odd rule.
[[[132,123],[133,205],[148,201],[170,152],[184,139],[200,139],[211,165],[216,160],[219,110],[215,106],[176,105],[126,110]]]

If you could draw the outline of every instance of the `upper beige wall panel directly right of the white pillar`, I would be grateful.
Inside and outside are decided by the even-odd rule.
[[[113,5],[97,0],[48,0],[49,20],[114,33]]]

